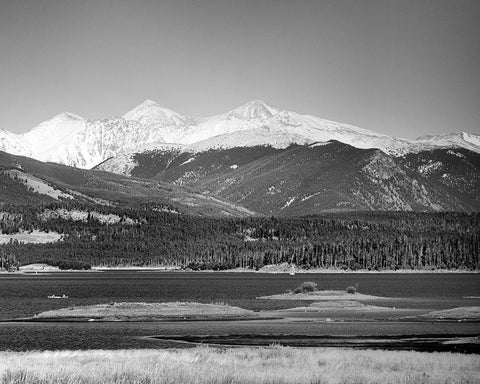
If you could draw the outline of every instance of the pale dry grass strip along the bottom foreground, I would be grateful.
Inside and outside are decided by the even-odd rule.
[[[295,349],[0,352],[1,384],[478,383],[480,357]]]

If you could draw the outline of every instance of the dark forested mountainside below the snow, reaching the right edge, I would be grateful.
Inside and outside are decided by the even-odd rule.
[[[188,186],[266,216],[480,210],[480,154],[467,149],[396,158],[331,140],[203,152],[163,148],[122,159],[99,168]]]

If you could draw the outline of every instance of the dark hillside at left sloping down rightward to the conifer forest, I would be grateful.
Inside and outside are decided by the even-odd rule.
[[[66,196],[64,199],[72,201],[128,206],[149,203],[159,209],[197,215],[248,216],[253,214],[243,207],[236,207],[221,199],[170,183],[42,163],[27,157],[0,152],[0,177],[8,178],[12,171],[22,180],[32,175],[49,188],[62,193],[62,196]],[[5,197],[3,201],[32,203],[56,200],[51,195],[32,192],[29,190],[31,186],[23,186],[20,181],[15,180],[15,176],[12,177],[8,185],[0,191]]]

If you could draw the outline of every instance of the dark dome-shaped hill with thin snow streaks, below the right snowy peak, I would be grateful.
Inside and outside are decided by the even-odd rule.
[[[473,209],[380,150],[339,142],[291,146],[191,185],[264,214]]]

